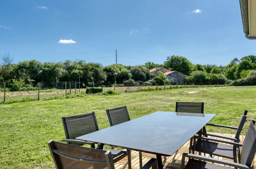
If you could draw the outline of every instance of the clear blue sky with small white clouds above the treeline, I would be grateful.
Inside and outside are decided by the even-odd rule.
[[[65,44],[66,43],[66,44]],[[162,64],[182,55],[193,64],[227,65],[256,54],[243,33],[239,1],[0,1],[0,54],[14,62],[83,59]]]

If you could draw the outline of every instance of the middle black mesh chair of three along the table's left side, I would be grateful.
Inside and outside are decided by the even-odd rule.
[[[75,139],[78,136],[82,136],[88,133],[92,133],[99,130],[99,126],[97,124],[96,116],[94,112],[62,117],[63,126],[66,134],[66,139],[62,140],[69,144],[74,145],[84,145],[89,144],[91,148],[95,148],[95,144],[89,141],[82,141]],[[119,150],[109,150],[103,149],[105,151],[111,151],[112,157],[116,158],[114,161],[118,161],[127,156],[126,151]]]

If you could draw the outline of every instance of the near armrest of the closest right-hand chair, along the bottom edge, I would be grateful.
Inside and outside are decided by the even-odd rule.
[[[200,155],[195,155],[195,154],[183,153],[182,158],[185,159],[184,157],[195,158],[195,159],[199,159],[199,160],[205,160],[205,161],[209,161],[209,162],[229,165],[229,166],[242,168],[242,169],[250,169],[250,167],[248,167],[247,165],[244,165],[244,164],[239,164],[239,163],[235,163],[235,162],[231,162],[231,161],[225,161],[225,160],[220,160],[220,159],[216,159],[216,158],[205,157],[205,156],[200,156]]]

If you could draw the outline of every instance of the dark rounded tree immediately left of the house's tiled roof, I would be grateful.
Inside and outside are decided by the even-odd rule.
[[[131,70],[131,78],[135,81],[147,81],[149,79],[149,70],[145,66],[135,66]]]

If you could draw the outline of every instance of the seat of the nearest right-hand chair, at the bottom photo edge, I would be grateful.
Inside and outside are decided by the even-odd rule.
[[[195,159],[189,159],[187,165],[185,166],[185,169],[203,169],[203,168],[208,168],[208,169],[227,169],[230,167],[223,166],[223,165],[217,165],[213,164],[210,162],[205,162],[205,161],[199,161]]]

